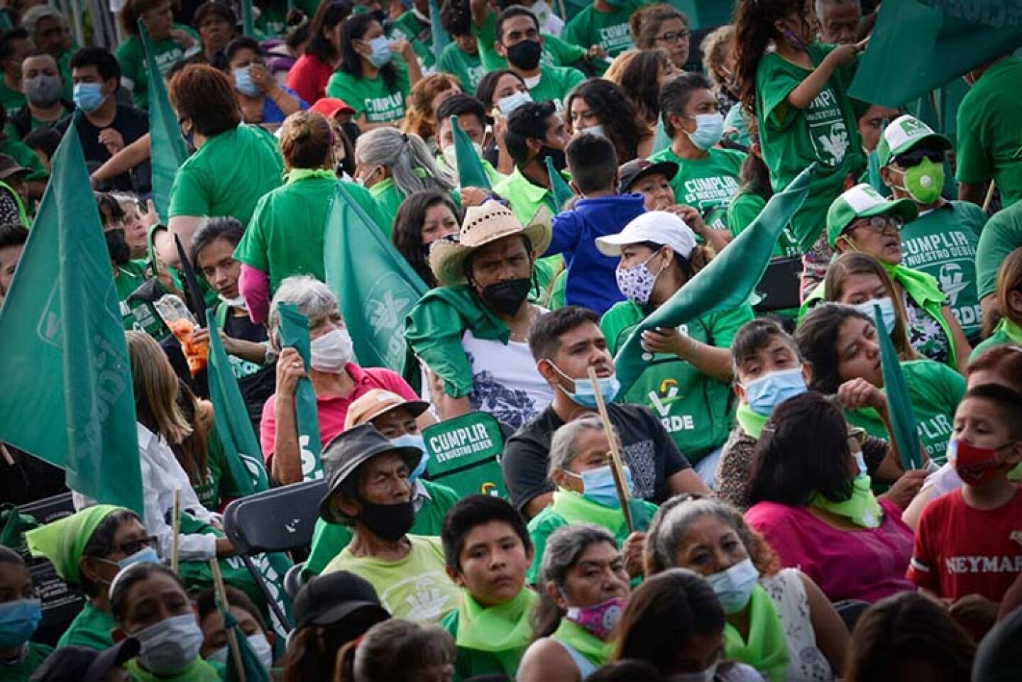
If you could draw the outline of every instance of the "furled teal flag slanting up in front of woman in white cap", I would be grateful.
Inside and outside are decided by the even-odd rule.
[[[676,328],[718,310],[745,303],[762,277],[784,226],[801,208],[816,175],[816,164],[771,197],[762,212],[709,265],[696,273],[662,306],[640,322],[614,358],[621,387],[628,393],[649,362],[643,358],[642,332],[654,327]]]

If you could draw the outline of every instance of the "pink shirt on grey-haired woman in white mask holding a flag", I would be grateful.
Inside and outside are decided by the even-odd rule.
[[[382,367],[359,367],[353,362],[344,365],[344,370],[355,380],[355,389],[346,398],[340,396],[330,396],[327,398],[316,397],[316,416],[320,422],[320,443],[323,447],[333,440],[333,437],[344,430],[344,417],[347,416],[347,408],[352,403],[366,395],[373,389],[383,389],[398,394],[406,400],[419,400],[419,397],[412,391],[401,374]],[[260,422],[260,446],[263,448],[263,457],[266,458],[266,467],[269,469],[273,465],[274,437],[277,434],[277,394],[270,396],[263,406],[263,420]],[[903,573],[903,572],[902,572]]]

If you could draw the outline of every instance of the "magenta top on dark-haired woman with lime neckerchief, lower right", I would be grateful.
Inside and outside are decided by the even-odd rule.
[[[901,510],[880,500],[884,520],[879,528],[840,531],[804,507],[759,502],[745,520],[774,548],[785,567],[798,569],[816,581],[831,601],[877,601],[915,590],[904,575],[912,558],[912,529]]]

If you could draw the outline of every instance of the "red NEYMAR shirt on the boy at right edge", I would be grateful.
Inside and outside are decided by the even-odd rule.
[[[973,509],[957,490],[919,519],[909,580],[941,597],[1001,601],[1022,572],[1022,494],[996,509]]]

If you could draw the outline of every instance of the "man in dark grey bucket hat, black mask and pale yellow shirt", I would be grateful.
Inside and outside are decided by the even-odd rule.
[[[352,541],[323,575],[350,571],[372,584],[394,618],[437,622],[457,607],[459,590],[445,571],[439,538],[408,535],[415,522],[408,474],[421,459],[419,448],[389,441],[372,424],[330,441],[319,513],[351,527]]]

